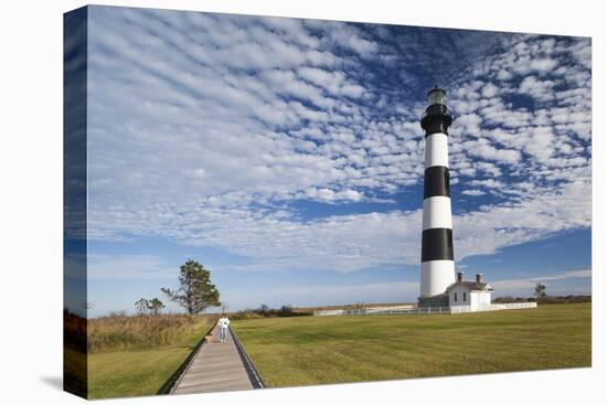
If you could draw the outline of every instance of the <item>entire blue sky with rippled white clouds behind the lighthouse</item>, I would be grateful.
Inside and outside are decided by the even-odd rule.
[[[89,316],[190,257],[231,309],[415,300],[435,84],[456,267],[590,291],[589,39],[92,7],[88,51]]]

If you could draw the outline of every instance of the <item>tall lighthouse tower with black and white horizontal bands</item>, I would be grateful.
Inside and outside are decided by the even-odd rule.
[[[452,117],[447,94],[428,92],[428,107],[422,117],[426,157],[424,172],[424,219],[422,232],[420,307],[448,306],[445,292],[455,283],[451,199],[449,196],[448,134]]]

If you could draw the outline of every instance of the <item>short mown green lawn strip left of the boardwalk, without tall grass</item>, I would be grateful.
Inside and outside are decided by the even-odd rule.
[[[214,323],[209,319],[195,333],[172,345],[88,355],[88,397],[153,395],[185,361]]]

